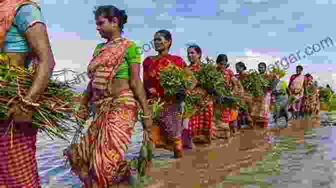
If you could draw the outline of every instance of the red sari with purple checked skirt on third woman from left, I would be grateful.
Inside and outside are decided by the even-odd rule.
[[[159,127],[160,132],[160,143],[156,143],[155,147],[182,152],[183,104],[177,104],[174,96],[164,96],[164,89],[160,87],[160,70],[169,64],[175,64],[180,68],[184,67],[183,59],[175,55],[160,56],[158,59],[145,58],[143,61],[143,84],[148,99],[161,99],[164,102],[160,109],[160,120],[153,121],[153,124]],[[150,94],[150,88],[157,91],[155,96]]]

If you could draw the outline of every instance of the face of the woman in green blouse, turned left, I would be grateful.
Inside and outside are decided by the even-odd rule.
[[[118,26],[118,19],[113,17],[111,22],[104,16],[96,16],[95,18],[96,29],[102,38],[108,38],[115,32],[120,32]]]

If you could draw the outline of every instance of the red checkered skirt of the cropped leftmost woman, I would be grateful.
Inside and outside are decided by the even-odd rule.
[[[11,142],[5,135],[8,125],[9,120],[0,120],[0,188],[40,188],[35,159],[37,129],[31,123],[15,123]]]

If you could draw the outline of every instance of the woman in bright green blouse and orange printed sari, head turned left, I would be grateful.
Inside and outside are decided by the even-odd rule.
[[[144,112],[144,127],[151,127],[143,84],[140,55],[135,43],[121,38],[127,15],[112,5],[94,11],[96,29],[105,43],[98,44],[87,67],[90,78],[81,109],[87,119],[87,104],[96,105],[96,117],[87,136],[64,151],[72,171],[85,188],[119,184],[129,175],[125,152],[136,122],[137,103]]]

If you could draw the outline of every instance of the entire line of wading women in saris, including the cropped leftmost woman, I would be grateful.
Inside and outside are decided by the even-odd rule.
[[[36,3],[30,0],[4,0],[0,1],[0,12],[2,51],[8,53],[12,62],[19,66],[26,66],[31,60],[38,63],[33,87],[24,100],[9,108],[8,116],[15,120],[13,138],[6,136],[9,121],[1,120],[0,188],[40,188],[35,159],[37,130],[27,121],[31,121],[31,112],[24,112],[21,107],[28,105],[24,101],[34,101],[37,93],[44,91],[47,78],[54,67],[53,56],[40,8]],[[127,22],[125,11],[104,5],[96,8],[94,16],[96,30],[106,42],[96,46],[87,66],[90,82],[81,99],[80,112],[82,118],[87,119],[88,105],[92,104],[96,107],[95,119],[87,134],[80,138],[79,143],[71,144],[65,149],[63,155],[69,160],[72,172],[80,178],[84,188],[112,188],[134,173],[125,160],[125,152],[139,108],[142,108],[144,114],[143,129],[151,138],[153,120],[147,99],[160,98],[164,101],[157,123],[161,142],[156,147],[161,144],[172,150],[175,158],[182,157],[184,147],[191,147],[191,142],[186,144],[188,139],[193,142],[211,142],[216,135],[216,125],[213,125],[216,102],[210,95],[214,93],[213,90],[201,88],[197,80],[193,80],[190,88],[179,89],[174,97],[164,96],[164,90],[160,87],[160,69],[169,64],[190,72],[200,70],[202,53],[198,46],[188,47],[190,65],[186,65],[181,57],[169,54],[172,45],[170,32],[157,31],[153,40],[157,55],[144,59],[142,82],[140,54],[135,43],[121,37],[123,26]],[[237,74],[234,75],[228,66],[226,55],[219,55],[216,63],[217,71],[223,73],[225,84],[233,88],[232,95],[240,96],[240,103],[251,104],[248,97],[244,96],[245,91],[240,84],[246,74],[245,65],[238,62]],[[265,70],[265,64],[260,63],[259,68]],[[292,108],[297,112],[302,104],[301,73],[293,75],[290,80],[289,94],[296,97]],[[270,92],[267,90],[265,93],[259,106],[269,104]],[[185,95],[201,97],[200,104],[195,107],[199,109],[198,113],[184,113]],[[269,108],[264,106],[263,109],[263,112],[254,115],[264,122]],[[224,107],[220,111],[222,122],[229,125],[232,133],[238,133],[239,128],[250,122],[249,110],[241,111],[239,105]],[[182,137],[188,139],[182,140]],[[13,147],[9,147],[10,140]]]

